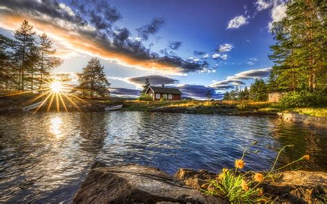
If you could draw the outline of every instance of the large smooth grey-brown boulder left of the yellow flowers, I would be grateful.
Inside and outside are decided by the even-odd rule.
[[[155,167],[118,165],[91,170],[73,203],[226,203],[183,185]]]

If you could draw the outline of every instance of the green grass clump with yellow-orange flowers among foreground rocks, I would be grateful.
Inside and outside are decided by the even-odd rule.
[[[254,142],[251,145],[255,145],[256,143],[257,142]],[[286,147],[293,146],[286,145],[279,150],[275,163],[269,172],[266,172],[265,174],[253,171],[241,172],[239,170],[243,169],[245,165],[244,156],[251,145],[248,145],[244,149],[241,159],[235,160],[235,169],[228,170],[227,168],[224,168],[220,174],[217,174],[216,179],[212,179],[208,183],[201,186],[202,192],[204,192],[206,195],[225,198],[230,203],[266,203],[270,201],[270,198],[264,196],[264,190],[259,187],[260,183],[268,178],[277,178],[279,174],[277,173],[277,176],[274,176],[274,173],[284,169],[285,167],[289,167],[298,161],[309,159],[309,156],[305,155],[300,159],[284,165],[283,167],[275,169],[275,165],[279,159],[281,151]],[[259,150],[255,151],[255,153],[257,152],[259,152]]]

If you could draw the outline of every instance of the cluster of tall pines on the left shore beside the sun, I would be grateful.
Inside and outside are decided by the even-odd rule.
[[[26,20],[15,30],[14,39],[0,34],[0,89],[41,90],[50,71],[61,65],[46,33],[36,36]]]

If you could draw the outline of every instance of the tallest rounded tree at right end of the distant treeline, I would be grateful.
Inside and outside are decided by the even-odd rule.
[[[268,90],[264,79],[255,79],[250,85],[250,99],[253,101],[267,101]]]

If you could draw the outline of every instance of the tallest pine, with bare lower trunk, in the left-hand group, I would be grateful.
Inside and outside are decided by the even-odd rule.
[[[34,35],[33,26],[24,20],[21,23],[21,27],[14,32],[14,38],[16,39],[16,52],[19,56],[19,87],[22,91],[25,89],[25,72],[26,72],[26,61],[28,52],[34,46]],[[21,83],[20,83],[21,82]]]

